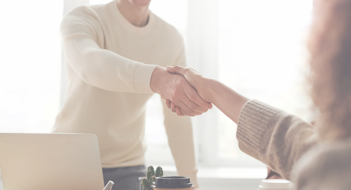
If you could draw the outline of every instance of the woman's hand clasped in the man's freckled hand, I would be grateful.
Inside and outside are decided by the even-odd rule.
[[[204,82],[205,80],[208,80],[207,77],[205,77],[203,74],[197,72],[196,70],[194,70],[193,68],[190,67],[180,67],[180,66],[174,66],[174,67],[167,67],[167,71],[170,73],[178,73],[180,75],[183,75],[185,77],[185,79],[188,81],[188,83],[196,89],[197,93],[199,94],[199,96],[207,101],[208,101],[208,97],[206,97],[206,93],[204,90]],[[179,116],[184,116],[183,113],[181,113],[181,110],[176,107],[176,105],[169,101],[166,100],[166,105],[168,108],[170,108],[173,112],[176,112],[177,115]],[[207,107],[207,109],[211,109],[212,105]]]

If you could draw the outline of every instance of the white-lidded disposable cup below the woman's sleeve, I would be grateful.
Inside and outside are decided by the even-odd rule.
[[[293,190],[294,183],[286,179],[264,179],[258,190]]]

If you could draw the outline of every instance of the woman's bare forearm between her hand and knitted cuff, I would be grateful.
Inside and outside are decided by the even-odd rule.
[[[226,116],[238,123],[241,108],[250,99],[215,79],[207,78],[206,80],[204,82],[205,96]]]

